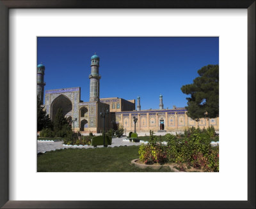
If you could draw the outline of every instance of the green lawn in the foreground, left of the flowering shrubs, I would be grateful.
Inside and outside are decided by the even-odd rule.
[[[140,169],[131,164],[138,159],[139,146],[108,148],[68,148],[40,154],[37,157],[38,172],[170,172]]]

